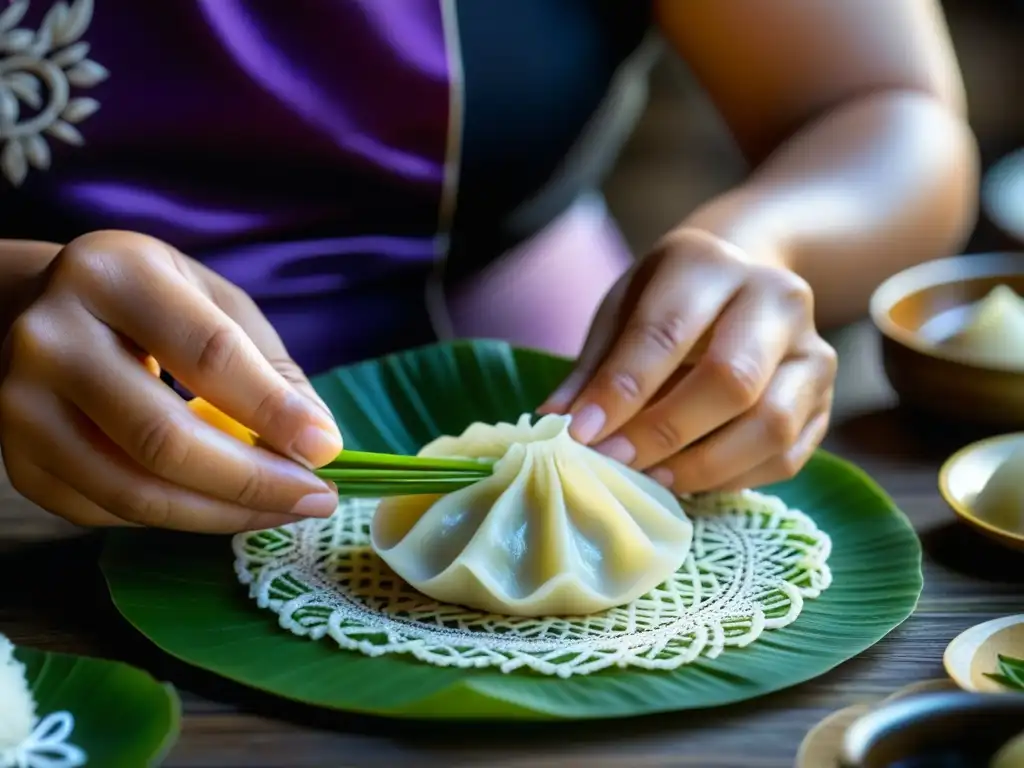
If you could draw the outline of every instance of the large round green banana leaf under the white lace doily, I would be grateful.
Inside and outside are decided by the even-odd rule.
[[[346,447],[412,455],[470,422],[536,409],[569,361],[502,342],[437,344],[341,368],[314,386]],[[313,706],[414,718],[590,719],[709,708],[817,677],[879,642],[913,611],[921,545],[863,472],[818,452],[793,480],[763,488],[833,539],[834,582],[790,627],[674,672],[609,670],[569,679],[454,670],[369,657],[296,637],[259,609],[226,538],[119,530],[102,556],[114,602],[156,645],[230,680]]]

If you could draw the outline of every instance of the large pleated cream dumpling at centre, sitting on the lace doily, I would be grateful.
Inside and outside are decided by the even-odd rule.
[[[374,549],[446,603],[507,615],[584,615],[649,592],[689,554],[693,523],[646,475],[577,442],[570,418],[481,424],[420,456],[497,459],[445,496],[385,499]]]

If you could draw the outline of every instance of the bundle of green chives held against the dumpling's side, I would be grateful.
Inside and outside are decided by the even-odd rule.
[[[475,459],[429,459],[342,451],[316,474],[346,497],[383,498],[450,494],[489,476],[494,463]]]

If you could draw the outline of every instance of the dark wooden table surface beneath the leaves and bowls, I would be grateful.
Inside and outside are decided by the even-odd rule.
[[[788,768],[828,713],[942,676],[946,643],[973,624],[1024,612],[1024,557],[955,524],[936,492],[942,458],[967,437],[923,431],[893,409],[870,329],[838,341],[837,425],[827,447],[858,463],[913,520],[926,551],[916,613],[861,656],[813,682],[745,705],[616,723],[504,727],[402,724],[325,714],[163,656],[114,614],[97,537],[20,500],[0,476],[0,632],[17,644],[117,657],[172,681],[184,702],[168,768],[306,766],[699,766]]]

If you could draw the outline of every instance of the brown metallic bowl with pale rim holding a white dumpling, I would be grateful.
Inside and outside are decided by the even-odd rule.
[[[904,269],[871,296],[886,377],[901,403],[944,420],[1024,428],[1024,368],[979,365],[940,344],[998,285],[1024,295],[1024,253],[954,256]]]

